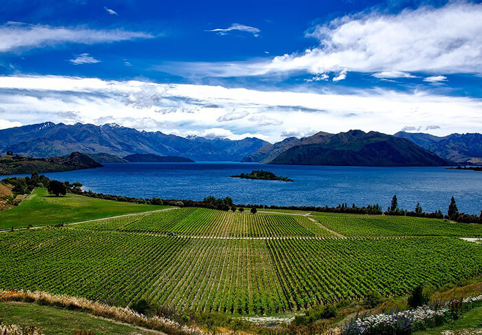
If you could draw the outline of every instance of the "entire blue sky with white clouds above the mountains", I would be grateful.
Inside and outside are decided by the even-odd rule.
[[[482,129],[480,1],[2,1],[0,128]]]

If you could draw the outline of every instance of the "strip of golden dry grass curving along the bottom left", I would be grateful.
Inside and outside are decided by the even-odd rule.
[[[48,292],[0,291],[0,301],[23,301],[28,303],[41,303],[45,305],[65,307],[68,309],[82,309],[86,312],[94,314],[95,316],[111,318],[116,321],[130,323],[132,325],[149,329],[161,330],[168,334],[204,334],[202,329],[188,327],[187,325],[180,325],[179,323],[169,320],[168,318],[162,318],[159,316],[147,317],[143,314],[138,314],[129,308],[114,307],[103,303],[89,301],[85,298],[77,298],[73,296],[50,294]]]

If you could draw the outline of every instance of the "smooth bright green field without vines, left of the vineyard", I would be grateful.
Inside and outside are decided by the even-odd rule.
[[[167,206],[122,203],[70,193],[66,196],[50,196],[45,188],[36,188],[20,205],[0,213],[0,229],[71,223],[165,207]]]

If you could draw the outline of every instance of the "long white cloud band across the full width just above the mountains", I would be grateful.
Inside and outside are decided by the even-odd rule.
[[[271,142],[282,139],[283,132],[284,136],[294,134],[291,130],[297,134],[310,129],[332,133],[361,129],[393,134],[407,120],[417,125],[416,129],[427,128],[437,135],[480,132],[482,128],[482,99],[421,91],[377,89],[336,94],[96,78],[3,76],[0,101],[1,119],[12,123],[70,123],[74,122],[72,118],[59,112],[75,111],[75,121],[83,123],[116,122],[141,130],[178,134],[205,135],[205,130],[210,130],[213,136],[230,139],[253,134]],[[242,121],[222,121],[225,123],[220,127],[220,120],[229,119],[227,114],[241,116],[244,112],[247,115]],[[434,124],[440,128],[430,128]]]

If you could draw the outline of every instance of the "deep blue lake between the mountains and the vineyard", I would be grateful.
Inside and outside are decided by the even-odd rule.
[[[231,178],[251,170],[269,170],[284,181]],[[401,208],[447,212],[450,197],[459,211],[480,214],[482,172],[443,167],[346,167],[264,165],[261,163],[106,163],[105,167],[45,174],[60,181],[80,181],[92,192],[138,198],[202,200],[231,196],[235,203],[336,206],[379,203],[384,210],[397,194]]]

